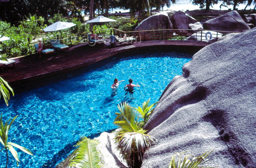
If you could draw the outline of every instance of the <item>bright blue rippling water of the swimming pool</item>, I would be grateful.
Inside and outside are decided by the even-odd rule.
[[[128,101],[132,107],[138,107],[148,98],[151,103],[158,101],[167,84],[174,76],[182,74],[183,64],[192,57],[192,54],[177,52],[129,55],[122,54],[47,79],[45,83],[46,80],[38,82],[40,87],[11,97],[9,107],[1,100],[4,121],[19,115],[12,124],[9,141],[34,154],[30,156],[17,149],[20,167],[52,167],[60,161],[56,160],[56,154],[67,145],[72,146],[79,137],[115,129],[117,104]],[[116,77],[125,81],[113,93],[110,86]],[[123,89],[129,78],[141,86],[135,88],[133,94]],[[10,156],[8,167],[15,167],[15,164]],[[3,151],[1,167],[5,167]]]

